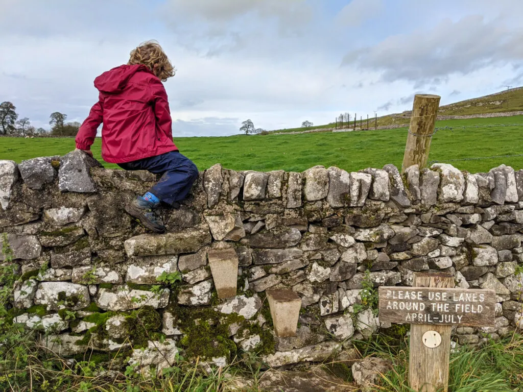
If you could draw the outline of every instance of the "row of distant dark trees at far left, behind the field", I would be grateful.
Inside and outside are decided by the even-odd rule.
[[[51,130],[44,128],[35,128],[31,125],[29,118],[24,117],[18,119],[16,107],[12,102],[0,103],[0,135],[4,136],[44,136],[50,134],[52,136],[76,136],[80,129],[80,123],[77,121],[65,122],[67,114],[54,112],[49,116]]]

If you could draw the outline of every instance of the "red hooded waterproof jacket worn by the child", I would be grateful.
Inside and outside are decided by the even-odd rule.
[[[101,130],[101,156],[124,163],[178,148],[164,85],[145,65],[120,65],[95,79],[98,102],[76,135],[76,148],[88,150]]]

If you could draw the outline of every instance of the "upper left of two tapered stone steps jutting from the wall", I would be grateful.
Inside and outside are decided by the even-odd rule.
[[[236,295],[238,282],[238,255],[233,249],[213,249],[207,252],[212,279],[218,298]]]

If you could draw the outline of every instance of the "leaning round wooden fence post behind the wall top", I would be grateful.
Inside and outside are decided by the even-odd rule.
[[[416,94],[414,97],[402,172],[412,165],[418,165],[420,169],[427,165],[440,99],[439,95],[431,94]]]

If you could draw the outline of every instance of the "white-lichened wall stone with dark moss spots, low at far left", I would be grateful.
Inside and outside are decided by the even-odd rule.
[[[46,305],[48,310],[85,308],[90,303],[87,286],[69,282],[42,282],[35,294],[36,305]]]

